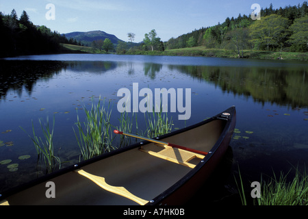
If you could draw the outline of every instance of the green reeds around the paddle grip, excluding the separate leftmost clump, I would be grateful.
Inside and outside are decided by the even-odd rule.
[[[136,135],[146,135],[148,138],[164,135],[172,129],[172,120],[168,118],[166,113],[162,112],[162,109],[161,112],[144,114],[145,131],[138,129],[137,114],[131,114],[130,116],[127,112],[123,112],[120,115],[118,126],[112,125],[110,123],[112,115],[110,105],[105,108],[104,105],[101,105],[100,101],[97,105],[92,102],[90,110],[84,106],[84,112],[86,113],[86,121],[82,123],[77,115],[76,125],[78,131],[74,129],[83,159],[90,159],[131,144],[133,141],[131,137],[120,135],[119,146],[113,146],[115,136],[113,135],[112,128],[125,133],[132,133],[134,130]]]

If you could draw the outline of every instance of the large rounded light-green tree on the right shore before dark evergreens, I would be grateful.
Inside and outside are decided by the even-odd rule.
[[[282,47],[287,37],[287,25],[287,18],[277,14],[262,17],[261,20],[254,21],[249,27],[251,42],[259,47],[266,47],[268,51],[270,47]]]

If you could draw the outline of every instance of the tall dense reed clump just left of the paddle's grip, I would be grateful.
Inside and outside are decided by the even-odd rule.
[[[77,129],[79,136],[74,130],[77,143],[81,150],[81,155],[84,159],[90,159],[105,152],[114,150],[112,146],[112,125],[110,124],[110,116],[112,110],[110,105],[105,109],[101,106],[101,101],[94,105],[92,101],[91,109],[88,110],[85,106],[86,121],[81,123],[77,114]]]

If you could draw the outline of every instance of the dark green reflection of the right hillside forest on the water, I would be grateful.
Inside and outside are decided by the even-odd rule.
[[[224,92],[252,96],[259,103],[308,106],[307,68],[170,66],[219,86]]]

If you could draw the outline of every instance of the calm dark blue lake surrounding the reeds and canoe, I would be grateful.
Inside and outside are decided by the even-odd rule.
[[[155,88],[191,90],[184,98],[191,100],[188,120],[179,120],[179,109],[168,112],[172,130],[235,105],[237,129],[221,170],[224,180],[217,200],[232,193],[238,168],[252,182],[273,171],[286,173],[293,166],[303,170],[308,162],[307,62],[61,54],[5,58],[0,60],[0,70],[0,162],[12,159],[11,164],[18,164],[15,171],[0,165],[0,194],[44,175],[27,135],[32,134],[32,123],[40,136],[39,118],[43,123],[49,118],[51,125],[54,118],[55,153],[64,162],[62,167],[75,164],[81,152],[73,128],[77,116],[84,118],[82,108],[101,100],[110,106],[112,124],[117,126],[117,103],[122,98],[118,90],[127,88],[132,93],[133,83],[139,90],[153,92]],[[138,126],[144,129],[142,112],[138,112]],[[31,157],[18,159],[21,155]]]

